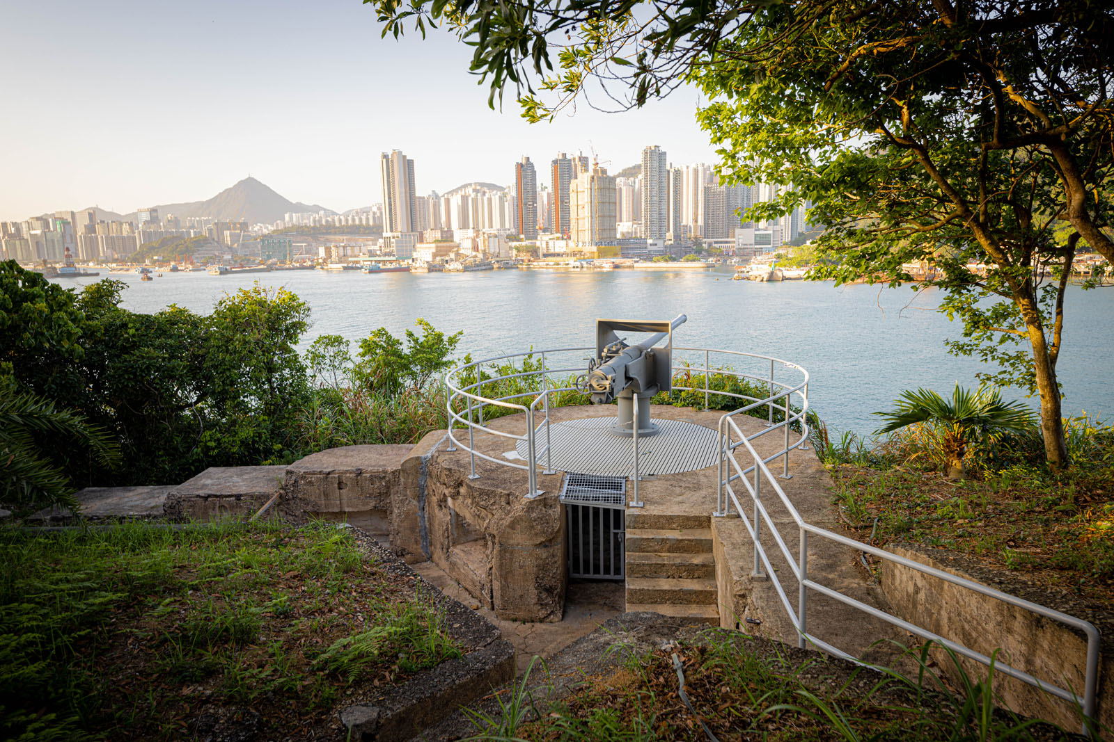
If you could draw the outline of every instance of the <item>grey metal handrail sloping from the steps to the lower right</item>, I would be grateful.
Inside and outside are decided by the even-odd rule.
[[[807,405],[808,405],[807,395],[803,402],[804,406],[802,410],[798,414],[798,418],[802,421],[802,429],[807,431],[807,423],[804,422],[807,415]],[[844,595],[843,593],[840,593],[839,591],[833,590],[827,585],[818,583],[815,580],[809,576],[809,570],[808,570],[809,566],[808,537],[809,534],[812,534],[821,538],[828,538],[829,541],[842,544],[844,546],[850,546],[867,554],[871,554],[880,560],[892,562],[895,564],[899,564],[910,570],[915,570],[917,572],[921,572],[924,574],[937,577],[947,583],[965,587],[981,595],[996,598],[1009,605],[1029,611],[1032,613],[1036,613],[1037,615],[1045,616],[1046,619],[1052,619],[1065,625],[1078,629],[1087,637],[1087,666],[1084,675],[1085,687],[1084,687],[1084,696],[1082,704],[1083,714],[1089,720],[1095,719],[1098,704],[1097,690],[1098,690],[1098,666],[1100,666],[1100,634],[1098,634],[1098,629],[1094,624],[1092,624],[1088,621],[1078,619],[1076,616],[1068,615],[1061,611],[1056,611],[1055,609],[1049,609],[1045,605],[1040,605],[1032,601],[1026,601],[1015,595],[1009,595],[1008,593],[995,590],[994,587],[988,587],[971,580],[952,575],[948,572],[944,572],[942,570],[938,570],[927,564],[921,564],[920,562],[917,562],[915,560],[899,556],[897,554],[887,552],[877,546],[870,546],[868,544],[863,544],[842,534],[838,534],[828,531],[827,528],[822,528],[820,526],[805,522],[804,518],[802,518],[800,513],[797,511],[797,507],[793,505],[793,503],[789,499],[789,497],[786,497],[784,491],[781,488],[781,485],[778,484],[776,477],[774,477],[773,474],[770,473],[770,468],[766,466],[766,463],[769,461],[776,458],[778,456],[782,455],[782,453],[779,452],[778,454],[774,454],[773,456],[766,458],[763,458],[761,455],[759,455],[759,453],[754,449],[754,446],[751,445],[751,441],[758,437],[758,435],[751,435],[751,436],[744,435],[734,419],[735,414],[736,413],[729,413],[720,418],[720,468],[719,468],[720,484],[719,484],[719,492],[716,499],[717,507],[714,515],[721,517],[725,516],[727,514],[726,513],[727,501],[730,499],[730,502],[734,506],[735,512],[739,514],[740,518],[742,518],[743,525],[750,533],[751,540],[754,544],[754,576],[766,577],[771,580],[774,590],[778,593],[778,597],[781,600],[782,606],[785,610],[785,613],[789,615],[789,619],[792,622],[793,627],[798,632],[799,647],[804,649],[807,644],[813,644],[814,646],[818,646],[837,656],[850,660],[852,662],[857,662],[859,664],[864,664],[859,662],[857,657],[851,656],[850,654],[843,652],[839,647],[836,647],[829,644],[828,642],[820,640],[814,634],[809,633],[808,595],[809,595],[809,590],[813,590],[820,593],[821,595],[827,595],[832,600],[839,601],[846,605],[850,605],[853,609],[862,611],[863,613],[871,615],[876,619],[886,621],[887,623],[890,623],[911,634],[920,636],[921,639],[937,642],[942,646],[950,649],[956,654],[962,655],[970,660],[975,660],[988,666],[991,663],[994,663],[995,672],[1000,672],[1009,677],[1020,680],[1025,683],[1028,683],[1029,685],[1034,685],[1065,701],[1076,704],[1079,703],[1078,694],[1069,689],[1062,689],[1053,683],[1046,683],[1044,681],[1040,681],[1039,679],[1035,677],[1034,675],[1023,670],[1018,670],[1009,664],[998,662],[997,659],[987,656],[986,654],[983,654],[976,650],[971,650],[962,644],[959,644],[958,642],[940,636],[935,632],[918,626],[909,621],[905,621],[903,619],[899,619],[898,616],[889,614],[880,609],[877,609],[872,605],[863,603],[862,601]],[[789,429],[788,423],[789,419],[786,417],[785,421],[786,431]],[[735,443],[731,442],[732,434],[734,434],[734,436],[739,438],[737,442]],[[761,435],[761,433],[759,435]],[[750,455],[750,458],[753,462],[751,466],[747,466],[746,468],[743,468],[742,465],[740,465],[740,463],[735,458],[734,452],[740,447],[745,447],[746,453]],[[786,461],[788,461],[788,455],[786,455]],[[735,471],[734,475],[730,474],[731,469]],[[753,483],[746,478],[746,475],[752,472],[754,475]],[[798,527],[800,543],[799,543],[798,556],[795,560],[793,555],[790,553],[789,546],[781,537],[781,534],[779,533],[776,526],[773,523],[773,520],[770,517],[770,514],[766,511],[764,503],[762,502],[761,485],[763,479],[769,485],[773,486],[778,499],[785,507],[785,509],[789,511],[790,515],[793,518],[794,524]],[[736,481],[743,483],[743,485],[747,491],[747,494],[750,495],[750,499],[753,504],[752,520],[747,520],[747,516],[743,508],[743,504],[739,501],[734,487],[732,487],[732,482]],[[776,542],[778,550],[785,557],[786,563],[790,565],[790,572],[798,581],[798,604],[795,611],[793,610],[793,606],[790,604],[789,597],[785,594],[785,590],[781,584],[781,580],[775,573],[773,566],[770,564],[770,558],[769,555],[766,554],[765,547],[762,545],[763,521],[765,521],[766,526],[770,528],[771,533],[774,534],[774,541]],[[762,572],[763,566],[765,567],[764,574]],[[1087,723],[1084,723],[1083,733],[1089,734],[1089,731],[1091,726]]]

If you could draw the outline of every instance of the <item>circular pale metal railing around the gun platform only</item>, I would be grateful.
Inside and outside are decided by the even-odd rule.
[[[774,417],[785,414],[791,395],[798,395],[798,398],[802,400],[804,409],[808,408],[808,373],[795,364],[779,358],[771,358],[770,356],[740,353],[737,350],[674,347],[673,353],[675,362],[673,365],[674,390],[703,393],[705,408],[709,408],[712,398],[716,395],[741,399],[746,403],[745,406],[736,409],[735,413],[751,412],[765,405],[769,408],[766,414],[769,428],[764,429],[763,433],[782,427],[782,424],[774,424]],[[588,356],[595,355],[595,348],[550,348],[547,350],[512,353],[476,360],[446,373],[443,380],[448,388],[446,408],[449,416],[449,451],[457,451],[459,446],[459,448],[468,452],[470,458],[469,478],[475,479],[480,476],[476,468],[476,458],[479,457],[499,466],[526,469],[528,478],[526,496],[532,498],[541,494],[538,489],[537,467],[544,463],[545,468],[543,473],[554,473],[551,436],[549,434],[549,409],[553,406],[550,397],[555,394],[580,392],[576,386],[569,385],[568,382],[571,375],[585,372],[587,367],[585,354]],[[550,364],[555,359],[554,367],[550,367]],[[713,364],[726,364],[729,362],[760,365],[761,373],[758,370],[746,373],[726,366],[713,368]],[[496,364],[502,364],[507,373],[498,373]],[[522,370],[535,364],[536,368]],[[774,373],[778,365],[799,372],[801,379],[794,385],[775,379]],[[766,374],[766,366],[769,366],[769,374]],[[485,377],[483,374],[486,373],[491,373],[491,375]],[[683,383],[677,383],[678,375]],[[740,382],[752,383],[756,385],[758,389],[776,389],[776,393],[766,393],[763,397],[732,392],[730,389],[713,389],[711,385],[712,379],[715,377],[735,378]],[[510,394],[501,396],[485,396],[485,386],[488,390],[499,390],[508,382],[516,383],[526,388],[515,389]],[[700,382],[703,382],[703,385]],[[492,392],[492,394],[498,394],[498,392]],[[638,404],[646,404],[646,400],[635,398],[634,404],[634,412],[637,414]],[[522,413],[526,416],[526,433],[518,435],[490,427],[486,424],[485,409],[492,407]],[[790,423],[793,424],[803,419],[804,409],[794,415]],[[543,419],[540,423],[535,424],[539,415],[541,415]],[[490,415],[488,415],[488,422],[490,422]],[[637,428],[637,425],[634,427]],[[790,476],[789,452],[805,445],[808,428],[807,426],[802,427],[800,439],[791,445],[790,425],[785,425],[784,427],[784,448],[769,461],[784,455],[783,469],[784,476],[788,477]],[[467,441],[458,435],[463,431],[467,431]],[[516,445],[518,442],[526,442],[527,456],[525,462],[518,463],[506,458],[497,458],[478,451],[476,446],[477,433],[496,435],[505,439],[515,441]],[[544,444],[540,443],[539,436],[545,436]],[[629,505],[632,507],[641,507],[643,505],[638,493],[638,481],[641,479],[638,475],[638,438],[637,429],[635,429],[631,446],[631,491],[633,501]]]

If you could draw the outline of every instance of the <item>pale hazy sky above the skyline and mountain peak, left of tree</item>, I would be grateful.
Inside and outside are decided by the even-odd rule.
[[[393,148],[423,194],[509,184],[522,155],[548,164],[589,141],[613,170],[655,144],[714,161],[693,91],[529,125],[511,93],[487,108],[455,37],[380,39],[359,0],[0,0],[0,27],[4,220],[197,200],[247,175],[343,210],[380,200],[377,158]]]

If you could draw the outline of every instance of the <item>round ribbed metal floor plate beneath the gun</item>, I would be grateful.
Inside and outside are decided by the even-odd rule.
[[[638,473],[678,474],[714,466],[719,461],[719,434],[703,425],[682,421],[655,419],[661,432],[638,439]],[[553,467],[560,472],[578,472],[626,477],[631,474],[632,442],[608,428],[614,417],[585,417],[554,423],[549,429],[553,442]],[[545,425],[538,427],[536,441],[538,462],[546,463]],[[525,441],[516,446],[518,455],[527,456]]]

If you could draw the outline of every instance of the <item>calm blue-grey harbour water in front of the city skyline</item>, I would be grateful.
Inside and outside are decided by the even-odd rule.
[[[461,354],[473,358],[529,349],[590,346],[597,317],[670,319],[686,314],[676,345],[776,356],[807,368],[813,408],[830,427],[869,433],[870,413],[925,386],[948,393],[977,385],[984,367],[956,358],[945,338],[961,335],[935,310],[939,294],[866,285],[732,281],[711,271],[498,270],[364,275],[290,270],[246,276],[164,273],[111,277],[128,284],[123,306],[158,311],[170,305],[207,313],[224,294],[285,286],[312,308],[307,340],[336,334],[353,342],[378,327],[401,335],[424,317],[447,333],[463,330]],[[61,279],[81,286],[96,278]],[[1114,290],[1072,287],[1058,364],[1065,414],[1114,417]],[[354,345],[354,344],[353,344]],[[1007,389],[1006,396],[1020,396]],[[1029,400],[1036,406],[1036,400]]]

